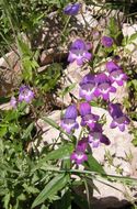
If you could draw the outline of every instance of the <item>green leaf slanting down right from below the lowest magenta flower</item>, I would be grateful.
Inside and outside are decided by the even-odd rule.
[[[92,155],[88,155],[88,162],[85,162],[85,165],[87,165],[87,168],[89,168],[92,172],[105,174],[102,165]]]

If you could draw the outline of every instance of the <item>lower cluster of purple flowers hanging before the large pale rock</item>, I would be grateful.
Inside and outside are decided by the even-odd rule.
[[[70,160],[75,161],[77,164],[81,164],[83,161],[88,160],[85,155],[88,145],[98,147],[101,143],[106,145],[110,144],[110,140],[103,134],[102,125],[99,123],[100,117],[92,113],[91,106],[88,102],[81,102],[79,105],[79,114],[81,117],[81,127],[87,128],[89,135],[87,138],[83,136],[82,140],[78,142],[76,150],[71,154]],[[77,117],[77,106],[69,106],[60,123],[61,128],[67,133],[70,134],[75,129],[79,128]]]

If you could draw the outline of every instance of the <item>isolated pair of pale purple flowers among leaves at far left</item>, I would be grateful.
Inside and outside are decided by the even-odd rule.
[[[16,108],[18,102],[30,103],[34,99],[34,91],[27,86],[22,86],[19,90],[19,98],[11,97],[10,105],[12,108]]]

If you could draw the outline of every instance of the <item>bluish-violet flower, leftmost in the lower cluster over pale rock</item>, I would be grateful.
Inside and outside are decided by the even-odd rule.
[[[72,130],[79,128],[79,124],[76,121],[77,116],[77,107],[75,105],[69,106],[60,123],[61,128],[66,130],[67,133],[71,133]]]

